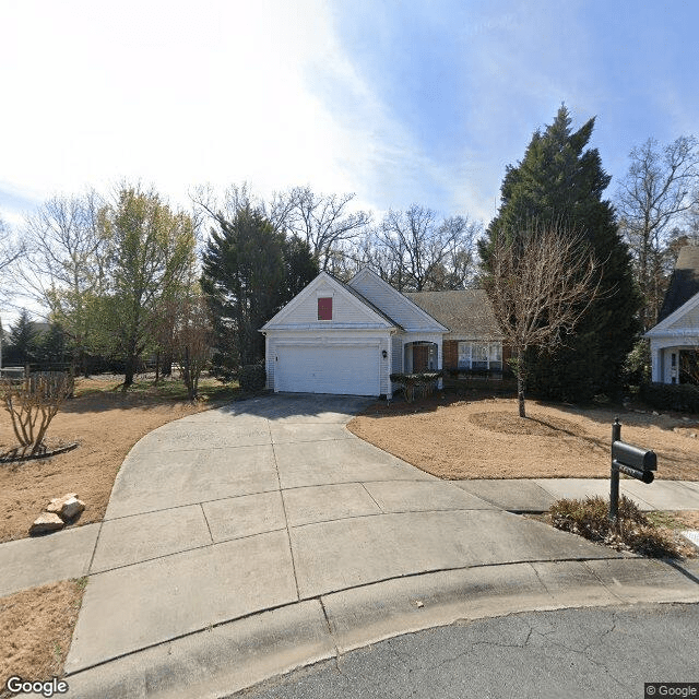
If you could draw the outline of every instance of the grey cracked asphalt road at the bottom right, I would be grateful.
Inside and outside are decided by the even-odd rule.
[[[699,605],[564,609],[458,623],[353,651],[232,697],[643,699],[644,683],[655,682],[699,683]],[[688,696],[699,697],[699,684]]]

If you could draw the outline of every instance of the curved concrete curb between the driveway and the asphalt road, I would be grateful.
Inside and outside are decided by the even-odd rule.
[[[505,564],[362,585],[202,629],[66,677],[71,699],[220,699],[388,638],[522,612],[698,603],[699,564]]]

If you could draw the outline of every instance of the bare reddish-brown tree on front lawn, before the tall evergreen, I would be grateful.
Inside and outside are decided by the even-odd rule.
[[[484,285],[516,358],[520,417],[525,417],[526,352],[553,348],[571,333],[599,293],[597,263],[582,236],[538,223],[499,234]]]

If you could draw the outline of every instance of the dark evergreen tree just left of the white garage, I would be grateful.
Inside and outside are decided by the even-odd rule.
[[[260,328],[318,274],[308,245],[275,230],[248,204],[227,221],[216,214],[203,257],[201,286],[214,319],[216,376],[264,359]]]

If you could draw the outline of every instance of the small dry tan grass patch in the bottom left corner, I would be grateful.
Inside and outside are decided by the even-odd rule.
[[[60,676],[70,648],[84,580],[64,580],[0,600],[0,696],[12,675]]]

